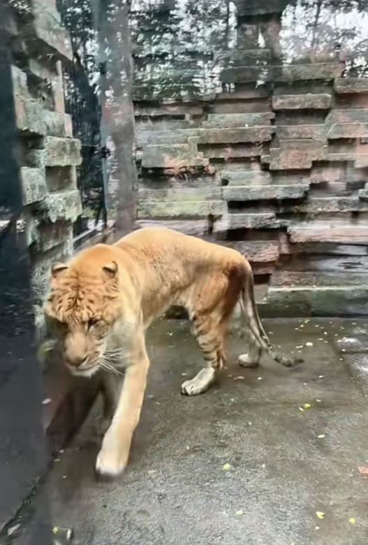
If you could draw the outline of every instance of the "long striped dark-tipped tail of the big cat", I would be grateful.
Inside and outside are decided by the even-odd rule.
[[[283,356],[282,354],[274,351],[270,339],[267,337],[258,315],[256,300],[254,298],[252,273],[246,275],[246,282],[244,288],[242,289],[242,296],[240,298],[240,306],[242,307],[244,317],[256,342],[258,342],[260,347],[267,351],[267,354],[270,354],[274,361],[277,361],[277,363],[281,363],[286,367],[291,367],[292,365],[303,361],[302,358],[289,358],[288,356]]]

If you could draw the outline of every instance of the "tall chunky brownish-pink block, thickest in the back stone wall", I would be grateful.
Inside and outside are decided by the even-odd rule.
[[[280,140],[270,149],[271,170],[311,168],[312,161],[327,159],[327,146],[321,140]]]

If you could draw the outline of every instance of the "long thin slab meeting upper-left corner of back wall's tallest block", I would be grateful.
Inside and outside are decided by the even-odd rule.
[[[206,129],[198,137],[198,143],[203,144],[232,144],[243,142],[266,142],[271,140],[271,126],[246,127],[244,129]]]

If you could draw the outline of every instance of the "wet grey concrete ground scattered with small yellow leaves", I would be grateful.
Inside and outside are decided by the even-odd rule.
[[[230,337],[219,384],[188,398],[180,384],[202,365],[196,342],[186,322],[159,321],[128,469],[96,481],[95,407],[39,494],[54,525],[73,528],[78,545],[367,544],[367,324],[264,323],[305,362],[243,370],[244,342]]]

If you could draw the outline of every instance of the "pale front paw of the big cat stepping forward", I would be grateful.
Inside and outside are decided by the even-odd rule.
[[[96,459],[96,472],[103,477],[117,477],[124,471],[128,456],[129,448],[108,432]]]

